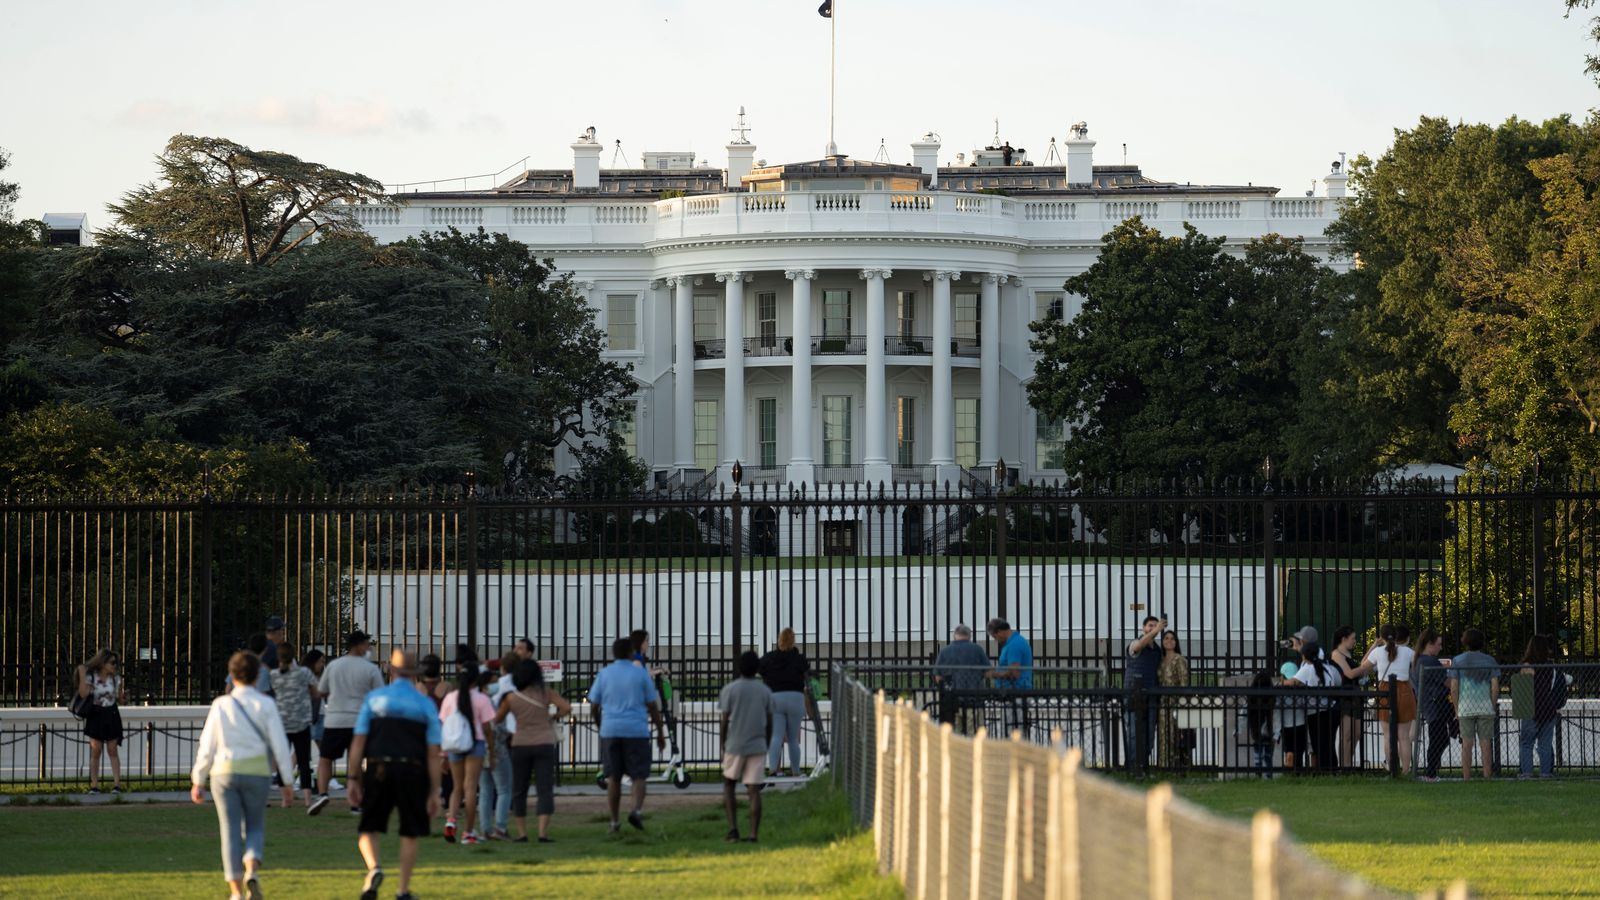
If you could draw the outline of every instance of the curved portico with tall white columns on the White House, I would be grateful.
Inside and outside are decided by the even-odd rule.
[[[712,266],[658,283],[672,303],[674,469],[957,484],[1000,458],[1002,293],[1026,306],[1014,267]]]

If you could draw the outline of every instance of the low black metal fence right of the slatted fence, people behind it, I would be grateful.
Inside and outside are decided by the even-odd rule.
[[[1421,690],[1408,681],[1290,685],[1267,671],[1181,687],[1114,685],[1101,671],[1050,666],[1035,666],[1026,687],[984,679],[984,687],[952,689],[952,671],[962,668],[941,668],[939,681],[928,666],[835,666],[835,729],[840,717],[861,714],[840,693],[846,679],[869,695],[907,701],[955,733],[1061,741],[1078,748],[1086,767],[1131,775],[1459,777],[1472,732],[1458,725],[1445,668],[1426,669]],[[1506,665],[1493,676],[1483,743],[1470,737],[1474,748],[1488,748],[1494,773],[1600,773],[1600,665]],[[1485,756],[1475,759],[1474,775]],[[850,761],[835,765],[848,770]]]

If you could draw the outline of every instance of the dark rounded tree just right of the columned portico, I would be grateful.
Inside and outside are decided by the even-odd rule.
[[[1256,471],[1285,456],[1301,421],[1298,359],[1323,341],[1338,285],[1298,240],[1269,235],[1234,256],[1194,227],[1163,237],[1130,219],[1067,280],[1082,312],[1034,325],[1029,400],[1072,423],[1064,466],[1078,476]],[[1290,471],[1325,472],[1344,456],[1360,453],[1299,448]]]

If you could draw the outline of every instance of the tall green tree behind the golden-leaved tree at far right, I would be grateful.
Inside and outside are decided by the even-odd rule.
[[[1581,138],[1565,117],[1499,127],[1422,119],[1395,131],[1384,155],[1350,165],[1354,199],[1328,229],[1357,261],[1354,303],[1334,325],[1349,364],[1338,389],[1350,418],[1381,432],[1382,463],[1464,460],[1450,423],[1469,362],[1446,340],[1464,303],[1454,251],[1478,234],[1480,259],[1523,264],[1542,218],[1530,163]]]

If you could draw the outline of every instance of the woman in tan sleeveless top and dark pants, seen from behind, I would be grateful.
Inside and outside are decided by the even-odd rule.
[[[555,721],[570,716],[573,706],[544,685],[544,669],[534,660],[517,663],[510,676],[512,687],[501,695],[496,722],[515,721],[510,735],[510,814],[517,820],[517,838],[512,842],[528,841],[528,780],[534,781],[539,802],[534,812],[539,815],[539,842],[554,844],[550,839],[550,814],[555,812]],[[555,713],[550,713],[550,708]]]

